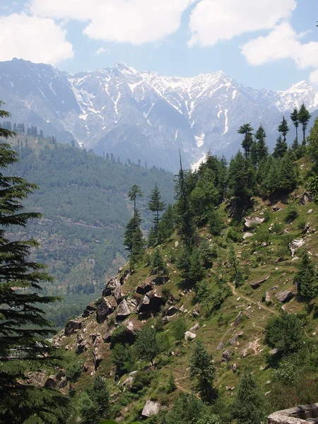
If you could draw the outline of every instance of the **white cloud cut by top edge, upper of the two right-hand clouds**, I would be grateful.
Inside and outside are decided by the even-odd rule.
[[[201,0],[190,16],[189,45],[212,46],[243,33],[273,28],[296,0]]]

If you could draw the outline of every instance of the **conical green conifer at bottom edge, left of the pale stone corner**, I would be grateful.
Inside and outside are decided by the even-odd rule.
[[[237,424],[261,424],[265,418],[264,397],[249,370],[240,379],[232,404],[232,418]]]

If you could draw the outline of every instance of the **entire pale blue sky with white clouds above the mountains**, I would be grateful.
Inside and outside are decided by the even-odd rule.
[[[318,88],[318,0],[0,0],[0,61]]]

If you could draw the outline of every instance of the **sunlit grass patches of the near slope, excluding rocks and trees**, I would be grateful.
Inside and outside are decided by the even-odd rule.
[[[306,163],[302,163],[304,160],[300,161],[299,165],[302,166],[302,175],[305,175],[307,170]],[[298,223],[301,220],[310,220],[312,223],[312,228],[318,228],[318,210],[317,205],[307,204],[301,206],[298,204],[298,196],[304,192],[304,188],[300,187],[297,189],[291,196],[290,201],[294,202],[299,216],[296,218],[293,223],[285,224],[285,227],[288,231],[288,235],[292,236],[293,239],[304,238],[306,241],[305,249],[312,252],[313,257],[316,252],[318,252],[318,240],[314,232],[310,232],[307,235],[302,235],[301,230],[298,230]],[[282,210],[273,212],[272,206],[262,202],[260,199],[257,199],[256,211],[253,215],[259,216],[259,213],[265,209],[270,213],[270,220],[266,223],[261,224],[260,228],[269,228],[271,223],[284,223],[285,211],[287,208],[286,204],[279,203]],[[310,209],[313,209],[313,213],[307,215],[307,212]],[[228,222],[228,217],[224,213],[224,205],[221,206],[220,211],[223,211],[223,220],[226,225]],[[206,228],[202,228],[200,231],[201,236],[207,235]],[[293,278],[295,276],[295,271],[298,267],[299,260],[293,260],[290,254],[286,256],[286,260],[280,263],[276,263],[276,259],[280,256],[278,252],[278,247],[283,240],[284,235],[272,235],[270,244],[267,247],[260,247],[255,243],[254,237],[248,238],[245,242],[237,243],[235,245],[235,251],[240,257],[249,257],[247,263],[249,269],[249,278],[244,285],[240,288],[233,288],[232,285],[228,284],[232,290],[232,295],[225,300],[223,305],[219,310],[213,311],[211,315],[206,314],[206,307],[200,306],[200,317],[194,318],[192,316],[192,311],[195,305],[194,301],[194,292],[184,293],[180,288],[180,278],[179,271],[177,270],[175,264],[167,261],[167,266],[170,272],[170,281],[165,283],[165,286],[171,289],[172,294],[177,298],[177,305],[181,307],[184,306],[184,309],[189,312],[184,312],[182,314],[187,320],[187,327],[190,329],[196,322],[199,322],[199,329],[196,330],[196,339],[201,339],[204,341],[208,347],[208,351],[211,351],[214,355],[216,363],[218,365],[218,372],[216,377],[216,387],[220,394],[223,394],[225,399],[230,401],[231,397],[235,393],[231,389],[226,387],[237,387],[239,382],[240,375],[242,370],[245,367],[250,367],[254,371],[254,375],[257,377],[259,383],[261,384],[261,389],[266,393],[266,391],[271,390],[271,377],[273,369],[269,367],[269,348],[264,346],[264,326],[267,319],[273,315],[278,315],[281,312],[282,304],[276,299],[276,293],[281,290],[288,288],[294,288]],[[230,269],[226,264],[227,261],[227,245],[225,242],[224,235],[217,237],[216,239],[211,240],[211,242],[216,242],[218,245],[219,257],[223,262],[223,272],[227,276],[226,281],[229,281]],[[166,245],[160,247],[162,250],[163,256],[167,260],[170,255],[173,253],[177,257],[180,251],[181,243],[179,242],[179,237],[174,235],[172,240]],[[149,250],[151,253],[152,250]],[[255,260],[257,258],[257,260]],[[315,259],[315,258],[314,258]],[[241,264],[245,263],[244,260],[241,260]],[[136,285],[144,281],[149,276],[150,269],[145,266],[145,264],[139,266],[132,276],[128,278],[124,284],[124,292],[127,296],[132,297],[134,294],[134,289]],[[209,278],[209,284],[211,288],[217,288],[216,279],[213,277],[215,272],[215,266],[208,271],[211,278]],[[264,278],[269,276],[270,278],[261,285],[257,290],[253,290],[249,283],[254,281],[256,278]],[[273,288],[278,286],[277,290]],[[162,286],[158,286],[158,290]],[[262,301],[266,292],[271,294],[271,304],[267,304]],[[296,298],[293,298],[290,302],[285,304],[285,311],[290,313],[301,312],[305,309],[304,304],[298,302]],[[235,328],[233,322],[237,314],[242,311],[243,319],[242,322]],[[143,322],[139,322],[138,317],[135,314],[132,314],[127,321],[133,321],[136,323],[137,328],[143,325]],[[307,325],[305,326],[305,335],[308,338],[314,338],[317,340],[316,330],[317,330],[318,319],[314,318],[314,314],[310,316],[307,320]],[[95,321],[95,314],[85,320],[84,324],[87,334],[92,334],[95,331],[99,331],[103,334],[107,330],[107,323],[100,325]],[[165,331],[171,330],[171,322],[165,326]],[[230,338],[239,331],[243,331],[242,337],[237,339],[237,343],[230,345],[228,341]],[[171,332],[171,331],[170,331]],[[59,334],[61,335],[61,334]],[[231,358],[229,363],[222,363],[221,355],[225,348],[221,351],[216,351],[216,348],[220,341],[223,341],[225,348],[231,352]],[[76,349],[74,343],[76,342],[76,334],[71,336],[71,338],[62,338],[61,346],[70,346],[70,351],[73,353]],[[184,343],[183,345],[176,345],[174,348],[175,355],[170,358],[170,363],[165,366],[159,366],[155,370],[155,379],[151,384],[151,387],[146,393],[144,393],[140,399],[133,400],[127,395],[127,392],[121,392],[120,386],[117,386],[112,381],[112,376],[114,369],[112,367],[111,353],[110,348],[107,343],[100,343],[99,350],[102,353],[103,360],[100,365],[100,368],[97,371],[98,375],[105,376],[110,382],[111,391],[114,395],[114,399],[122,399],[122,416],[124,419],[121,421],[125,424],[131,424],[134,420],[141,414],[141,409],[143,408],[146,399],[158,399],[163,404],[169,404],[175,399],[177,393],[170,394],[167,396],[164,394],[164,387],[167,384],[167,378],[169,375],[173,374],[178,391],[191,391],[192,390],[192,381],[189,379],[189,356],[192,353],[193,343]],[[80,356],[83,356],[88,359],[91,363],[93,347],[88,350],[88,352],[83,353]],[[243,352],[245,352],[245,357],[243,357]],[[232,364],[236,363],[238,370],[234,374],[232,372]],[[144,363],[138,363],[136,367],[141,368]],[[87,384],[90,382],[90,375],[88,372],[84,372],[81,379],[76,384],[76,390],[81,391]],[[126,379],[126,376],[122,377],[121,381],[123,382]],[[125,404],[129,403],[129,408],[124,408]]]

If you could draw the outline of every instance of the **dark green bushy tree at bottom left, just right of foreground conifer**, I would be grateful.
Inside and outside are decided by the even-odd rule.
[[[93,386],[83,392],[79,412],[88,423],[96,424],[101,418],[107,418],[110,409],[110,394],[102,377],[95,377]]]

